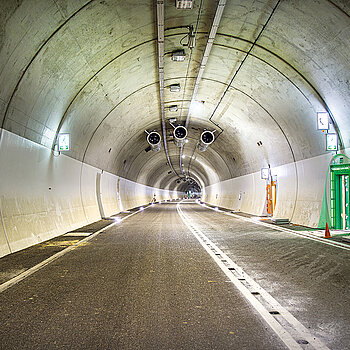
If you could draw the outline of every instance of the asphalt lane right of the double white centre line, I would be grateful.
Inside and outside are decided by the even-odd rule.
[[[331,349],[350,347],[349,252],[193,203],[193,223]]]

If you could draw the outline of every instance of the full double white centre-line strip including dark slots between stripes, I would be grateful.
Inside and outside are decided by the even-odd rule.
[[[256,283],[243,269],[230,259],[215,243],[184,214],[181,203],[177,211],[182,221],[197,238],[202,247],[212,257],[234,286],[268,323],[288,349],[329,350],[319,339],[302,325],[288,310],[278,303],[267,291]]]

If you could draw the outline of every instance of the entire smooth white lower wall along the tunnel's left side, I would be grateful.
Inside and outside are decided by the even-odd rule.
[[[176,191],[152,188],[0,130],[0,256]],[[100,174],[100,175],[98,175]]]

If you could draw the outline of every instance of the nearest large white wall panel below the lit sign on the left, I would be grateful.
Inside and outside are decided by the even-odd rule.
[[[12,251],[86,224],[80,163],[3,131],[1,210]]]

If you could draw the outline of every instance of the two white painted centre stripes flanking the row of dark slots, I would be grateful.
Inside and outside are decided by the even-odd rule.
[[[213,251],[208,247],[208,245],[202,240],[202,238],[194,231],[191,226],[194,226],[193,222],[189,223],[189,219],[186,218],[186,215],[183,213],[180,208],[180,203],[178,203],[178,212],[192,232],[192,234],[197,238],[203,248],[209,253],[225,275],[230,279],[230,281],[236,286],[237,289],[243,294],[243,296],[252,304],[252,306],[259,312],[263,319],[269,324],[269,326],[274,330],[274,332],[280,337],[280,339],[285,343],[289,349],[302,349],[302,347],[295,341],[295,339],[288,333],[288,331],[283,328],[283,326],[276,321],[276,319],[268,312],[268,310],[251,294],[248,288],[246,288],[237,277],[228,269],[227,266],[213,253]],[[212,247],[215,247],[215,250],[220,253],[222,258],[226,260],[229,265],[234,267],[241,275],[244,275],[245,280],[255,288],[256,291],[273,307],[275,308],[280,315],[293,326],[294,330],[300,335],[302,339],[305,339],[317,350],[329,350],[329,348],[324,345],[319,339],[314,337],[309,330],[301,324],[289,311],[282,307],[277,300],[275,300],[268,292],[266,292],[258,283],[256,283],[249,275],[247,275],[241,267],[234,263],[230,257],[228,257],[221,249],[219,249],[213,242],[211,242],[203,232],[198,228],[195,228],[202,236],[205,237],[206,242],[209,242]]]

